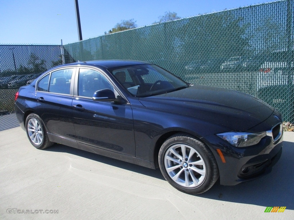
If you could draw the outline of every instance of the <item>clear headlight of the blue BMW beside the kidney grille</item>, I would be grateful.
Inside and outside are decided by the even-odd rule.
[[[252,133],[252,132],[225,132],[217,134],[220,138],[228,141],[235,147],[247,147],[258,144],[261,138],[266,136],[266,132]]]

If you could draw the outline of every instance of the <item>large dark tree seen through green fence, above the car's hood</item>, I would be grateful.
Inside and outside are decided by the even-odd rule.
[[[242,25],[240,25],[242,23]],[[189,18],[178,30],[182,59],[214,60],[218,66],[230,57],[250,57],[250,38],[246,30],[250,24],[243,17],[236,17],[233,11],[212,13]]]

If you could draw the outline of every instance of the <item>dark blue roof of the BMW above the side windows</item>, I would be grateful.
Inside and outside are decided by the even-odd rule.
[[[70,64],[64,64],[60,67],[81,65],[81,66],[94,66],[94,67],[106,67],[108,69],[115,67],[139,65],[139,64],[150,64],[149,62],[137,61],[137,60],[92,60],[92,61],[81,61]]]

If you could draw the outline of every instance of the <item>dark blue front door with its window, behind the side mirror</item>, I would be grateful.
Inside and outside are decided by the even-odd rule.
[[[131,105],[93,101],[94,92],[118,90],[103,71],[80,68],[73,99],[76,140],[97,148],[135,156],[134,124]]]

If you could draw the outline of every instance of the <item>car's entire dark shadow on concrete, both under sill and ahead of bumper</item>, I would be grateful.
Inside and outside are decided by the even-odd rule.
[[[71,148],[66,145],[54,144],[45,150],[81,156],[100,163],[164,180],[160,169],[149,169],[88,151]],[[293,158],[293,143],[284,141],[281,158],[268,175],[235,186],[220,185],[218,180],[207,192],[195,196],[263,207],[286,206],[286,209],[294,210]]]

